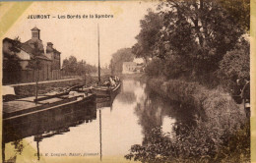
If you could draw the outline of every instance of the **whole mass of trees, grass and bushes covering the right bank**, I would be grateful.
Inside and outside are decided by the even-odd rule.
[[[156,94],[200,113],[197,125],[160,128],[131,146],[141,162],[250,162],[250,122],[231,97],[236,80],[249,81],[249,0],[167,0],[141,21],[133,53],[147,61]]]

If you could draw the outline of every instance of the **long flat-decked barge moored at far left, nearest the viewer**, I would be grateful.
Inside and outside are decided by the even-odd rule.
[[[3,102],[3,120],[28,116],[33,113],[56,108],[85,107],[96,102],[96,95],[85,90],[83,86],[75,86],[68,91],[53,95],[38,95]]]

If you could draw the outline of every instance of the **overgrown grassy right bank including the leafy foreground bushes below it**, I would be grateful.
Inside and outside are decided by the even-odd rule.
[[[126,158],[142,162],[249,162],[250,126],[244,110],[222,89],[208,89],[197,82],[148,80],[157,94],[193,105],[204,112],[197,126],[174,127],[170,138],[152,131],[147,145],[133,145]]]

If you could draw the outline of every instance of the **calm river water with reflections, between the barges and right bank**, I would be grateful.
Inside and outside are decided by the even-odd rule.
[[[63,162],[65,156],[97,161],[100,155],[102,161],[123,158],[132,145],[144,143],[153,128],[161,127],[172,136],[173,126],[190,124],[195,113],[161,98],[145,82],[126,78],[113,101],[53,115],[16,127],[24,134],[4,144],[5,161],[51,162],[54,156],[56,162]]]

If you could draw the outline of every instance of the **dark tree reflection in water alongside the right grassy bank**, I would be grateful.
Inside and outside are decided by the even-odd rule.
[[[145,88],[145,100],[138,101],[135,113],[139,117],[139,124],[143,128],[144,140],[143,144],[152,143],[152,130],[162,126],[164,116],[175,119],[172,129],[169,132],[179,135],[184,130],[189,130],[196,125],[195,119],[198,117],[196,110],[189,106],[178,102],[169,101],[156,94],[149,86]]]

